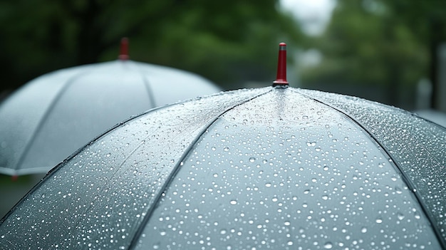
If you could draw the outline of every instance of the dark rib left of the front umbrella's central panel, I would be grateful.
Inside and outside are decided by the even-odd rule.
[[[254,97],[251,97],[251,98],[249,98],[247,100],[244,100],[242,103],[237,103],[236,105],[233,105],[232,107],[227,108],[226,110],[222,111],[222,113],[217,115],[215,118],[212,118],[212,120],[210,120],[207,123],[207,125],[204,126],[204,128],[198,133],[198,135],[195,137],[195,139],[192,140],[192,142],[190,142],[190,145],[185,149],[185,152],[183,152],[182,156],[180,157],[178,162],[173,167],[172,172],[170,172],[169,177],[167,177],[167,180],[162,185],[162,187],[160,189],[160,192],[158,192],[158,194],[155,196],[155,199],[154,199],[154,202],[152,203],[152,206],[149,207],[149,210],[147,211],[144,219],[142,219],[142,222],[141,222],[140,226],[138,226],[138,230],[136,231],[135,236],[133,237],[132,241],[130,242],[130,246],[129,246],[128,249],[134,249],[135,246],[138,244],[138,239],[139,239],[140,235],[142,234],[142,231],[144,231],[144,226],[145,226],[145,224],[147,224],[147,222],[149,221],[150,217],[152,217],[153,212],[155,212],[155,207],[157,207],[157,204],[160,202],[162,194],[165,192],[165,190],[167,190],[167,188],[170,186],[170,183],[173,181],[173,179],[177,175],[177,172],[180,170],[181,163],[185,160],[187,155],[190,154],[190,152],[192,151],[194,146],[197,144],[197,142],[202,137],[202,135],[204,135],[204,133],[209,129],[209,127],[211,127],[217,120],[219,120],[219,118],[222,117],[222,115],[224,115],[228,111],[233,110],[234,108],[236,108],[239,105],[242,105],[244,103],[248,103],[249,101],[254,100],[255,98],[259,98],[261,95],[266,95],[267,93],[270,93],[272,90],[274,90],[274,88],[271,88],[271,90],[268,90],[268,91],[266,91],[264,93],[255,95]]]

